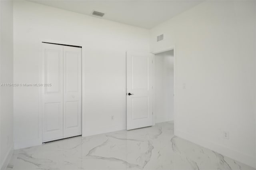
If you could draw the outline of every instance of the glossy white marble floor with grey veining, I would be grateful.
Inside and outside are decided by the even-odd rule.
[[[174,136],[172,122],[15,150],[7,170],[255,170]]]

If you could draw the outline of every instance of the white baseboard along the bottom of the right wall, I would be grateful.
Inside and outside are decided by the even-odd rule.
[[[256,168],[255,158],[253,156],[242,154],[236,150],[215,144],[198,136],[186,134],[180,130],[174,129],[174,135]]]

